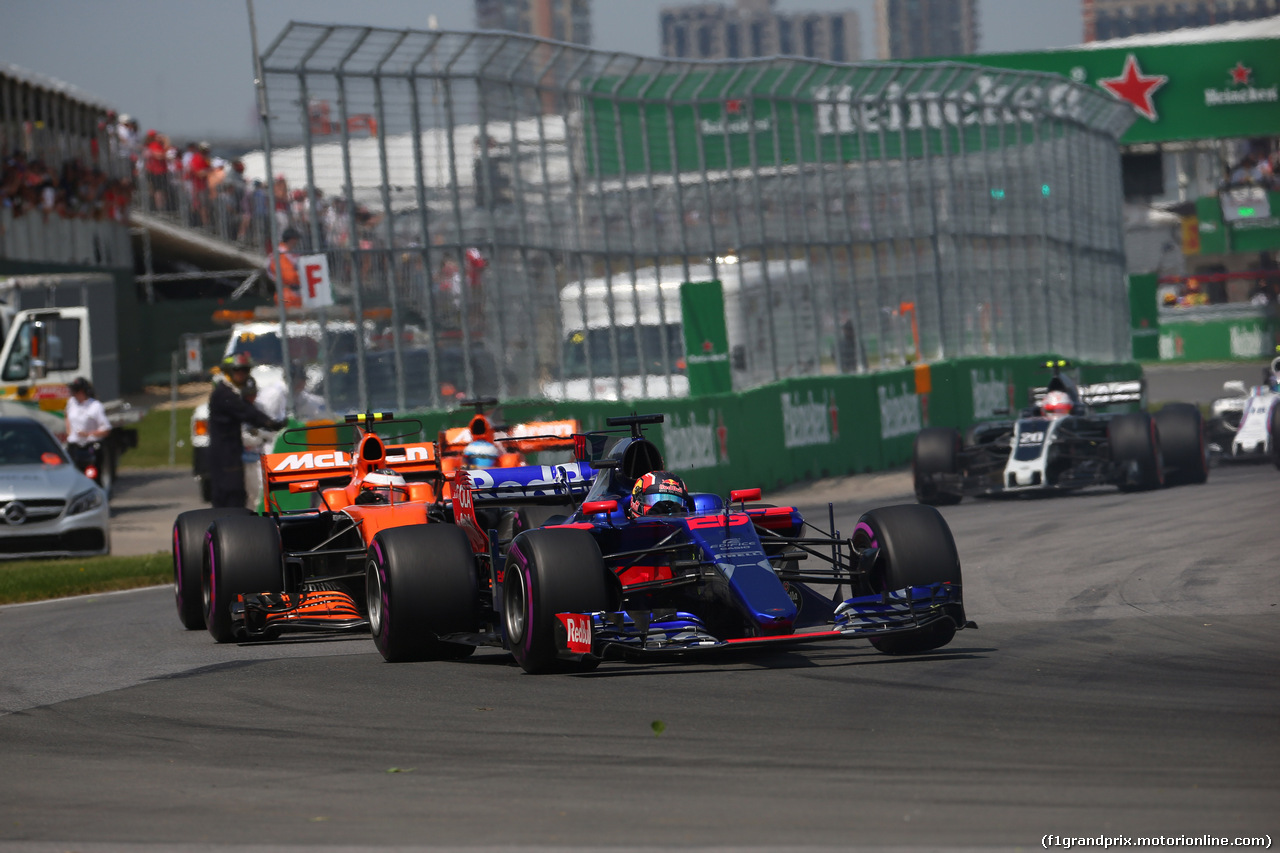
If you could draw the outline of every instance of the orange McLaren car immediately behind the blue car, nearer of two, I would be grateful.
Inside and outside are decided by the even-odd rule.
[[[439,452],[416,419],[351,415],[284,433],[262,456],[268,514],[195,510],[173,526],[178,617],[214,639],[369,626],[365,564],[380,530],[452,521]],[[282,510],[284,494],[314,506]]]

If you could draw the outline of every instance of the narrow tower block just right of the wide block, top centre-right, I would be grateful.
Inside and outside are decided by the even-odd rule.
[[[978,53],[978,0],[876,0],[879,59]]]

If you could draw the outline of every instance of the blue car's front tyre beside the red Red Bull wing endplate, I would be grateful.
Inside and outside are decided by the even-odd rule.
[[[526,672],[585,672],[596,658],[557,657],[556,613],[611,610],[613,594],[600,548],[585,530],[539,529],[516,537],[507,552],[502,619],[507,643]]]

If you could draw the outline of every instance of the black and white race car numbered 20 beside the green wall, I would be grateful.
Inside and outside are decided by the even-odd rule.
[[[1032,389],[1016,420],[974,425],[961,437],[947,426],[915,437],[911,473],[920,503],[959,503],[964,496],[1065,492],[1115,485],[1124,492],[1208,478],[1204,423],[1192,403],[1155,415],[1103,414],[1094,406],[1142,402],[1142,380],[1080,387],[1048,362],[1053,375]]]

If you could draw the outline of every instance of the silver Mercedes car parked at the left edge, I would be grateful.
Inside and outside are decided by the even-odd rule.
[[[35,418],[0,416],[0,557],[111,551],[106,493]]]

